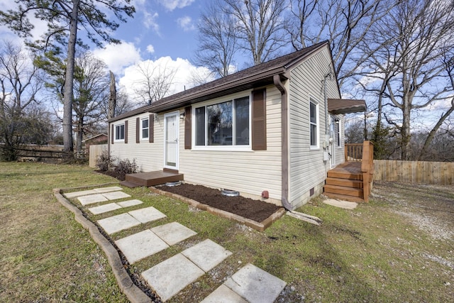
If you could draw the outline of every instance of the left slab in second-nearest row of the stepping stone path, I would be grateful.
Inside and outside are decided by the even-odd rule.
[[[204,271],[181,253],[142,272],[148,285],[160,296],[163,302],[204,275]]]

